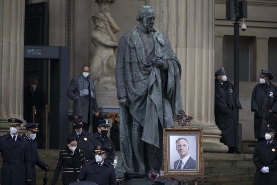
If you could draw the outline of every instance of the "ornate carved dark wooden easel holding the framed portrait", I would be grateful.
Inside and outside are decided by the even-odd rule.
[[[187,116],[185,114],[184,110],[179,110],[178,114],[175,114],[172,116],[173,117],[173,121],[174,121],[174,128],[177,128],[177,123],[178,125],[183,126],[187,126],[188,123],[188,127],[191,128],[191,120],[193,119],[191,116]],[[208,180],[211,176],[206,176],[206,175],[185,175],[185,176],[172,176],[172,175],[164,175],[161,176],[161,179],[166,179],[166,180],[172,180],[172,185],[174,185],[174,180],[178,181],[178,185],[181,185],[181,182],[184,184],[186,184],[187,182],[191,182],[194,181],[194,185],[197,185],[197,180]]]

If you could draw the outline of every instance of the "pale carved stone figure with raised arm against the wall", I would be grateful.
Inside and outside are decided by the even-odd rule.
[[[110,6],[115,0],[96,0],[100,12],[94,14],[91,19],[95,28],[91,31],[91,42],[95,46],[90,69],[95,86],[115,88],[115,48],[117,47],[116,32],[119,27],[111,17]]]

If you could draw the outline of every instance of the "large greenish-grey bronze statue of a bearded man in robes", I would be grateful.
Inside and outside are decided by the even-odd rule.
[[[117,177],[125,171],[160,170],[162,128],[173,127],[182,109],[181,65],[168,38],[154,28],[155,12],[139,9],[139,26],[118,45],[115,78],[120,104],[120,156]]]

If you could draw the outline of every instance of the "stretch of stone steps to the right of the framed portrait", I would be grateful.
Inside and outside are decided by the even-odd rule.
[[[198,185],[251,185],[254,184],[256,167],[252,154],[204,153],[204,173],[208,181]],[[194,183],[188,183],[192,185]]]

